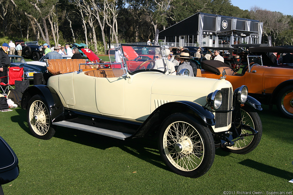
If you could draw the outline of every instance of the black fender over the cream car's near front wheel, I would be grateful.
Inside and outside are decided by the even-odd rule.
[[[214,114],[201,105],[192,101],[173,101],[164,103],[152,112],[132,137],[144,137],[144,135],[158,130],[161,123],[173,113],[193,115],[204,126],[213,126],[216,123]]]

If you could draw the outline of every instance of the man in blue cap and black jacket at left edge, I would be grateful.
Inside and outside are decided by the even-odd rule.
[[[10,66],[8,48],[9,45],[7,43],[3,43],[0,48],[0,77],[7,76],[7,68]],[[7,81],[7,77],[1,79],[1,82],[7,83]]]

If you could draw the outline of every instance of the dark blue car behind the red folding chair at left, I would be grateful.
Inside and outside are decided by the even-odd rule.
[[[8,55],[10,59],[11,66],[18,66],[20,68],[24,68],[24,78],[25,79],[33,79],[34,73],[45,73],[47,68],[40,65],[30,65],[28,64],[23,57],[17,55]]]

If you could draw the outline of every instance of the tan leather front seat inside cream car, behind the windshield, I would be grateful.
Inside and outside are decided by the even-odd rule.
[[[114,74],[115,72],[115,74]],[[113,77],[120,77],[124,74],[123,70],[121,69],[113,69],[112,68],[100,68],[96,70],[89,70],[84,73],[85,75],[91,77],[101,77],[101,78],[113,78]]]

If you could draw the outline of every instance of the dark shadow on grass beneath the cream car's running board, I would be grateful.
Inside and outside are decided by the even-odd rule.
[[[168,170],[159,154],[157,142],[149,137],[120,140],[66,127],[57,127],[54,137],[101,150],[117,147],[159,168]]]

